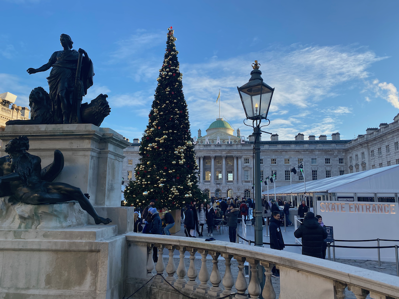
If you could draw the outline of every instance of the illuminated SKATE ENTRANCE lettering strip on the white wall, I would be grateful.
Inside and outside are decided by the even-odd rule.
[[[344,203],[334,201],[320,202],[320,212],[396,214],[394,203]]]

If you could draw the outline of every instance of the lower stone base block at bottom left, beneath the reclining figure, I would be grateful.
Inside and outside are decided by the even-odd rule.
[[[0,298],[122,298],[126,250],[115,225],[1,229]]]

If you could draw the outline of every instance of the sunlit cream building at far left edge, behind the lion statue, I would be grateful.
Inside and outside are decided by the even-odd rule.
[[[0,94],[0,131],[4,131],[5,123],[8,121],[29,119],[29,108],[15,105],[15,100],[16,96],[12,93]],[[2,141],[0,140],[1,147]]]

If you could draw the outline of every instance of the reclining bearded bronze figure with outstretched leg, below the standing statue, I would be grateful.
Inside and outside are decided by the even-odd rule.
[[[16,201],[34,205],[77,200],[96,224],[112,222],[98,216],[88,194],[69,184],[52,182],[64,166],[59,150],[54,151],[54,162],[41,169],[40,157],[26,152],[28,149],[26,136],[14,138],[5,146],[9,156],[0,158],[0,196],[13,196]]]

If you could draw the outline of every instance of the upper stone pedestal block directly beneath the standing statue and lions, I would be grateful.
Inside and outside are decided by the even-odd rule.
[[[28,152],[41,158],[42,168],[52,163],[54,149],[59,149],[65,163],[54,181],[88,193],[97,213],[111,218],[118,233],[133,231],[133,208],[121,207],[123,149],[130,145],[122,135],[92,124],[11,125],[0,132],[0,139],[6,144],[21,135],[28,137]],[[89,221],[93,223],[91,217]]]

